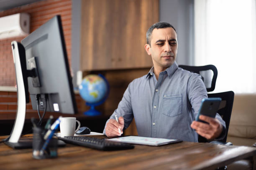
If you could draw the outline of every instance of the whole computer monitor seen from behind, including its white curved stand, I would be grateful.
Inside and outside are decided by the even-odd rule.
[[[33,31],[21,43],[12,42],[12,48],[18,104],[7,144],[18,148],[26,103],[29,102],[28,92],[33,110],[44,110],[47,106],[46,111],[75,114],[77,106],[59,15]]]

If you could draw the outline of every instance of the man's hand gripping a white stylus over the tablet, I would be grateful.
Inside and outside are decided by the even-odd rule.
[[[118,118],[119,123],[115,119],[110,119],[106,125],[106,135],[108,138],[113,138],[123,134],[124,120],[123,117]],[[118,128],[121,134],[118,132]]]

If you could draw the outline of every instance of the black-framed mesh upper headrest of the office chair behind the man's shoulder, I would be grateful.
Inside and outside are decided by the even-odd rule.
[[[207,92],[212,92],[215,89],[216,79],[218,75],[218,70],[214,65],[204,65],[204,66],[189,66],[189,65],[179,65],[179,67],[190,72],[195,72],[202,76],[202,80],[205,83]]]

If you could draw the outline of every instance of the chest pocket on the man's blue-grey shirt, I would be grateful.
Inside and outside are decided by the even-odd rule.
[[[163,114],[170,117],[182,114],[182,95],[164,95]]]

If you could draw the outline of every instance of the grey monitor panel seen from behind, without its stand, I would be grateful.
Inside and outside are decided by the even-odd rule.
[[[48,95],[46,111],[69,114],[77,112],[61,17],[55,16],[21,43],[26,51],[27,70],[34,67],[38,70],[40,84],[36,83],[38,78],[28,77],[33,109],[37,110],[38,95],[43,101]],[[44,102],[40,102],[39,109],[44,110]]]

